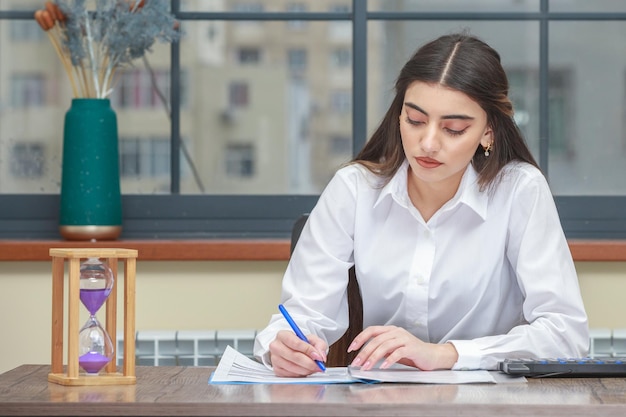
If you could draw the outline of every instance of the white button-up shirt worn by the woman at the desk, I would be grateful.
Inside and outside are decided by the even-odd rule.
[[[363,324],[395,325],[454,344],[454,369],[504,358],[587,354],[587,315],[554,199],[542,173],[510,163],[480,191],[470,165],[428,222],[407,191],[405,163],[383,185],[361,165],[340,169],[319,198],[283,278],[282,303],[304,333],[329,344],[348,326],[355,265]],[[289,326],[273,315],[255,343]]]

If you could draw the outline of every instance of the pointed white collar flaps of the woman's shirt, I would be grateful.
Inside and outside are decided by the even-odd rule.
[[[378,206],[378,204],[386,198],[393,198],[398,204],[404,207],[409,207],[412,204],[407,190],[408,168],[409,162],[404,161],[389,182],[381,188],[380,194],[374,202],[374,207]],[[442,207],[442,210],[447,211],[456,207],[458,204],[464,204],[485,220],[487,218],[487,205],[489,202],[488,194],[488,192],[480,190],[480,186],[478,185],[478,173],[472,164],[469,164],[463,174],[459,189],[454,197]]]

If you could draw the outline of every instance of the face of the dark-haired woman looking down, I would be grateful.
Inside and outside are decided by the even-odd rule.
[[[404,94],[402,147],[416,185],[456,191],[479,145],[493,141],[487,113],[466,94],[416,81]]]

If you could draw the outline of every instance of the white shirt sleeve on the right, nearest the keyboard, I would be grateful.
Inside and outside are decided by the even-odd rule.
[[[537,173],[520,180],[512,195],[506,256],[524,296],[525,323],[504,335],[450,340],[459,353],[453,369],[496,369],[511,357],[587,355],[587,315],[548,184]]]

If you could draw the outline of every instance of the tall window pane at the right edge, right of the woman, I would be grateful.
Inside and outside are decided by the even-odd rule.
[[[550,183],[556,194],[626,194],[624,22],[550,23]],[[561,115],[567,115],[559,123]],[[564,137],[561,143],[558,138]],[[555,135],[554,137],[552,135]]]

